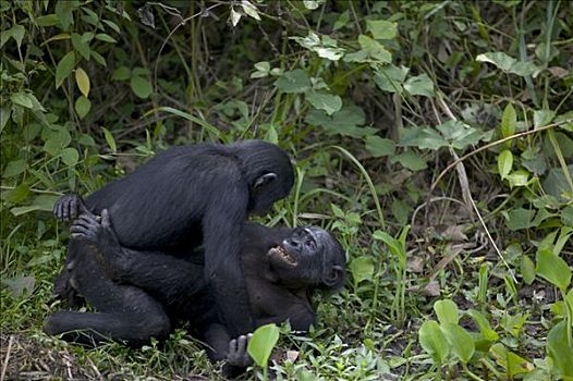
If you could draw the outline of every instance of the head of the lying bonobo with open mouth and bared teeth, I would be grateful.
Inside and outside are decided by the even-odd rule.
[[[344,285],[346,258],[340,243],[318,228],[297,228],[267,258],[288,287],[317,286],[338,290]]]

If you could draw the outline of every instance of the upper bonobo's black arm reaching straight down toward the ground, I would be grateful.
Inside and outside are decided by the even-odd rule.
[[[232,336],[253,331],[241,245],[247,196],[228,189],[227,199],[212,200],[204,217],[205,271],[212,286],[219,317]]]

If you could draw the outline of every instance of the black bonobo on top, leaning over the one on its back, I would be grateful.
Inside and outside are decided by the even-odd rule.
[[[205,253],[205,280],[233,335],[253,329],[240,266],[241,232],[249,213],[268,210],[294,182],[288,155],[276,145],[245,140],[171,148],[133,173],[89,195],[85,207],[114,217],[120,246],[156,254]],[[82,211],[76,195],[60,198],[56,217]],[[82,247],[72,239],[66,266]]]

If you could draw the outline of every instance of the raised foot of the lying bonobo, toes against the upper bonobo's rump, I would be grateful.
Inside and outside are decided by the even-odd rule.
[[[73,238],[84,241],[96,248],[96,259],[110,279],[121,280],[121,275],[127,270],[129,256],[120,245],[107,209],[101,210],[101,218],[84,211],[72,223],[70,232]]]

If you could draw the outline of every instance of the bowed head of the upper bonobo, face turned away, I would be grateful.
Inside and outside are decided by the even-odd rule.
[[[278,146],[263,140],[244,140],[231,145],[248,182],[249,213],[260,214],[286,197],[294,183],[289,156]]]

